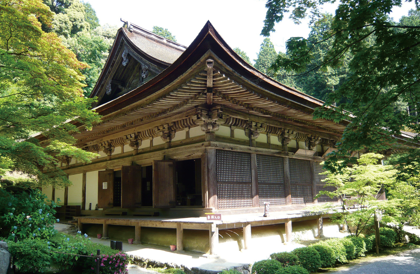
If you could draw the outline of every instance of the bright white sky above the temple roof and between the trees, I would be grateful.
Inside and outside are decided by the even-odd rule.
[[[257,58],[263,36],[260,32],[265,19],[264,0],[85,0],[95,9],[101,25],[122,26],[123,20],[147,30],[153,26],[167,28],[178,43],[189,46],[207,20],[232,48],[239,47],[251,61]],[[414,2],[414,1],[413,1]],[[392,17],[396,21],[414,3],[404,3],[395,8]],[[324,12],[334,13],[337,4],[328,4]],[[292,36],[307,37],[308,21],[294,24],[287,16],[276,24],[276,32],[270,36],[276,51],[285,51],[284,43]]]

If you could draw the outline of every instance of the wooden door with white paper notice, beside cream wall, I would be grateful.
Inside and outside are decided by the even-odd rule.
[[[98,171],[98,207],[113,207],[114,171]]]

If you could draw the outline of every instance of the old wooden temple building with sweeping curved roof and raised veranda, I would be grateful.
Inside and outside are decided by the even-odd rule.
[[[262,218],[267,202],[270,213],[334,202],[314,197],[345,125],[314,120],[322,101],[256,70],[210,22],[189,47],[126,23],[91,96],[102,121],[74,137],[98,157],[63,159],[73,185],[43,189],[63,201],[63,220],[81,215],[81,229],[99,223],[107,236],[108,225],[131,225],[140,242],[141,227],[176,228],[181,249],[183,229],[209,230],[214,253],[217,230],[244,227],[246,239],[264,223],[207,222],[206,213]],[[289,222],[265,224],[286,223],[287,233]]]

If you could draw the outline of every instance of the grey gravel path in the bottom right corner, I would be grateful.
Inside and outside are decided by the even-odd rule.
[[[395,255],[375,258],[346,269],[328,272],[331,274],[419,274],[420,248],[410,249]]]

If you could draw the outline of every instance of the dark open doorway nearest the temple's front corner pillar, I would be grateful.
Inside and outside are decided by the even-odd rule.
[[[178,206],[201,206],[201,160],[176,162],[176,203]]]

